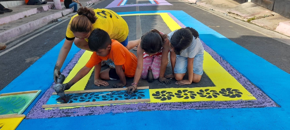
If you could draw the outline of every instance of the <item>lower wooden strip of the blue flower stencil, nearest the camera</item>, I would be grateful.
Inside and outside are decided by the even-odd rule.
[[[102,105],[102,104],[118,104],[118,103],[139,103],[139,102],[150,102],[150,99],[95,101],[95,102],[83,102],[83,103],[61,103],[61,104],[42,105],[42,108],[75,107],[75,106],[86,106],[86,105]]]

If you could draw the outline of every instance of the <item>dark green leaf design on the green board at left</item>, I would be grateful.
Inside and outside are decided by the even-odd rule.
[[[0,115],[18,113],[26,105],[22,97],[6,97],[0,99]]]

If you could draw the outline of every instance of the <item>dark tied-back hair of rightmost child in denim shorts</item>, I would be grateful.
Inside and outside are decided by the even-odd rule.
[[[196,39],[199,37],[199,34],[191,27],[186,27],[175,31],[170,39],[171,45],[174,48],[174,52],[177,55],[180,55],[184,49],[189,47],[193,40],[193,36],[195,36]]]

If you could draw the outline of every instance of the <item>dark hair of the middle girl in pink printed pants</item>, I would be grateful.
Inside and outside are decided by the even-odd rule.
[[[149,54],[157,53],[165,43],[165,38],[168,38],[166,34],[160,34],[159,31],[153,29],[141,37],[141,48]]]

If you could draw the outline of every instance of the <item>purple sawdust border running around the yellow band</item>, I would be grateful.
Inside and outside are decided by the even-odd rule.
[[[168,13],[175,22],[182,28],[185,26],[178,21],[174,16]],[[240,74],[228,62],[222,59],[215,51],[202,42],[204,49],[239,83],[244,86],[257,100],[247,101],[200,101],[200,102],[176,102],[176,103],[136,103],[124,105],[106,105],[95,107],[78,107],[71,109],[50,109],[45,110],[41,106],[46,104],[50,98],[53,90],[53,85],[45,92],[36,105],[30,110],[26,118],[56,118],[56,117],[72,117],[72,116],[86,116],[99,115],[106,113],[124,113],[137,111],[154,111],[154,110],[182,110],[182,109],[224,109],[224,108],[253,108],[253,107],[277,107],[276,103],[264,94],[259,88],[255,87],[248,79]],[[68,75],[69,71],[73,69],[78,59],[84,53],[84,50],[79,51],[71,62],[66,66],[62,74]]]

